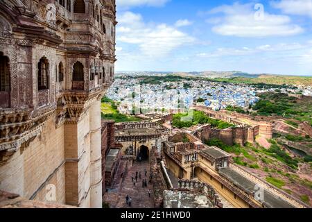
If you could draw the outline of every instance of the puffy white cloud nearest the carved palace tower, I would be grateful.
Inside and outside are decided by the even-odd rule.
[[[141,15],[125,12],[119,16],[117,41],[139,47],[142,56],[161,57],[195,41],[167,24],[146,24]]]

